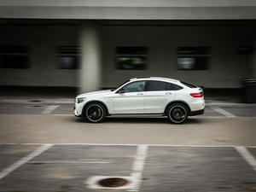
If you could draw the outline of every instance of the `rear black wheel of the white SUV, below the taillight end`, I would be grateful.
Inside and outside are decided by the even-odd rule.
[[[183,104],[174,104],[167,111],[168,119],[174,124],[182,124],[188,118],[188,110]]]

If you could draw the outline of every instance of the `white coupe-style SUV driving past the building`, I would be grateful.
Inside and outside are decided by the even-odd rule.
[[[77,96],[74,114],[93,123],[106,116],[167,116],[181,124],[188,116],[204,113],[202,89],[176,79],[130,79],[117,89]]]

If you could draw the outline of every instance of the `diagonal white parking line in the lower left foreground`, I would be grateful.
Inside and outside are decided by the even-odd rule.
[[[3,169],[2,172],[0,172],[0,180],[3,177],[6,177],[9,175],[10,172],[14,172],[17,168],[25,164],[27,161],[32,160],[34,157],[38,156],[39,154],[42,154],[47,149],[51,148],[53,144],[44,144],[41,147],[39,147],[37,150],[33,151],[31,154],[26,155],[26,157],[23,157],[21,160],[16,161],[13,165]]]

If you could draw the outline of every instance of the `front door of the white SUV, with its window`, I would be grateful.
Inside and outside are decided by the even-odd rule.
[[[146,81],[126,84],[113,96],[114,113],[144,113]]]

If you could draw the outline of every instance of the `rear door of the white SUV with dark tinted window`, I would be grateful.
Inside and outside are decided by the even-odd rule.
[[[164,113],[172,102],[176,91],[171,83],[149,80],[145,97],[145,113]]]

